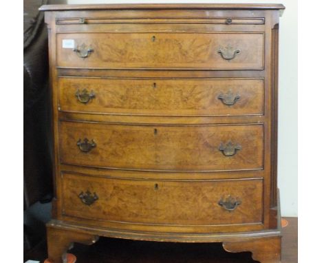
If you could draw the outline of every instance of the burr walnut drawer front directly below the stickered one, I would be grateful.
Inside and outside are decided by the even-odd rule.
[[[163,116],[264,114],[263,78],[59,78],[65,112]]]

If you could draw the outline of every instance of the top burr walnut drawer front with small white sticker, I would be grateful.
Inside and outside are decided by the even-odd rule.
[[[67,33],[57,34],[57,48],[58,67],[264,69],[261,32]]]

